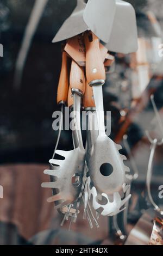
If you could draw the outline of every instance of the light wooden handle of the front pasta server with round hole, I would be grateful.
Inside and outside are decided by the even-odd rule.
[[[106,79],[104,63],[99,48],[99,39],[92,32],[84,35],[86,47],[86,78],[90,84],[95,80]]]

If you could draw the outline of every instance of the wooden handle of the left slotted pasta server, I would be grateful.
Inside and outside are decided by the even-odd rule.
[[[70,71],[70,87],[79,90],[82,95],[85,93],[84,69],[72,60]]]

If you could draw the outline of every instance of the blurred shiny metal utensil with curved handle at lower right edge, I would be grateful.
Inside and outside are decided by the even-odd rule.
[[[156,113],[158,113],[158,110],[155,110]],[[152,139],[148,133],[147,136],[151,142],[151,154],[148,162],[146,187],[147,199],[153,206],[153,209],[147,210],[145,214],[142,215],[133,230],[131,230],[126,241],[126,245],[163,245],[163,210],[161,210],[160,207],[154,202],[151,193],[154,154],[156,146],[163,144],[163,139],[162,141],[158,141],[156,138]]]

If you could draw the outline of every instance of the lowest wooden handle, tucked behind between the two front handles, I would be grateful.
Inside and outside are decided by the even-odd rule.
[[[95,100],[93,98],[93,89],[89,86],[89,83],[86,81],[85,94],[83,97],[83,106],[87,107],[95,107]]]

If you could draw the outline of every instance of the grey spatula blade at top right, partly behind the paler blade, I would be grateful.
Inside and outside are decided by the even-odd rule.
[[[137,51],[136,15],[130,3],[116,0],[112,31],[108,42],[104,46],[111,52],[123,54]]]

